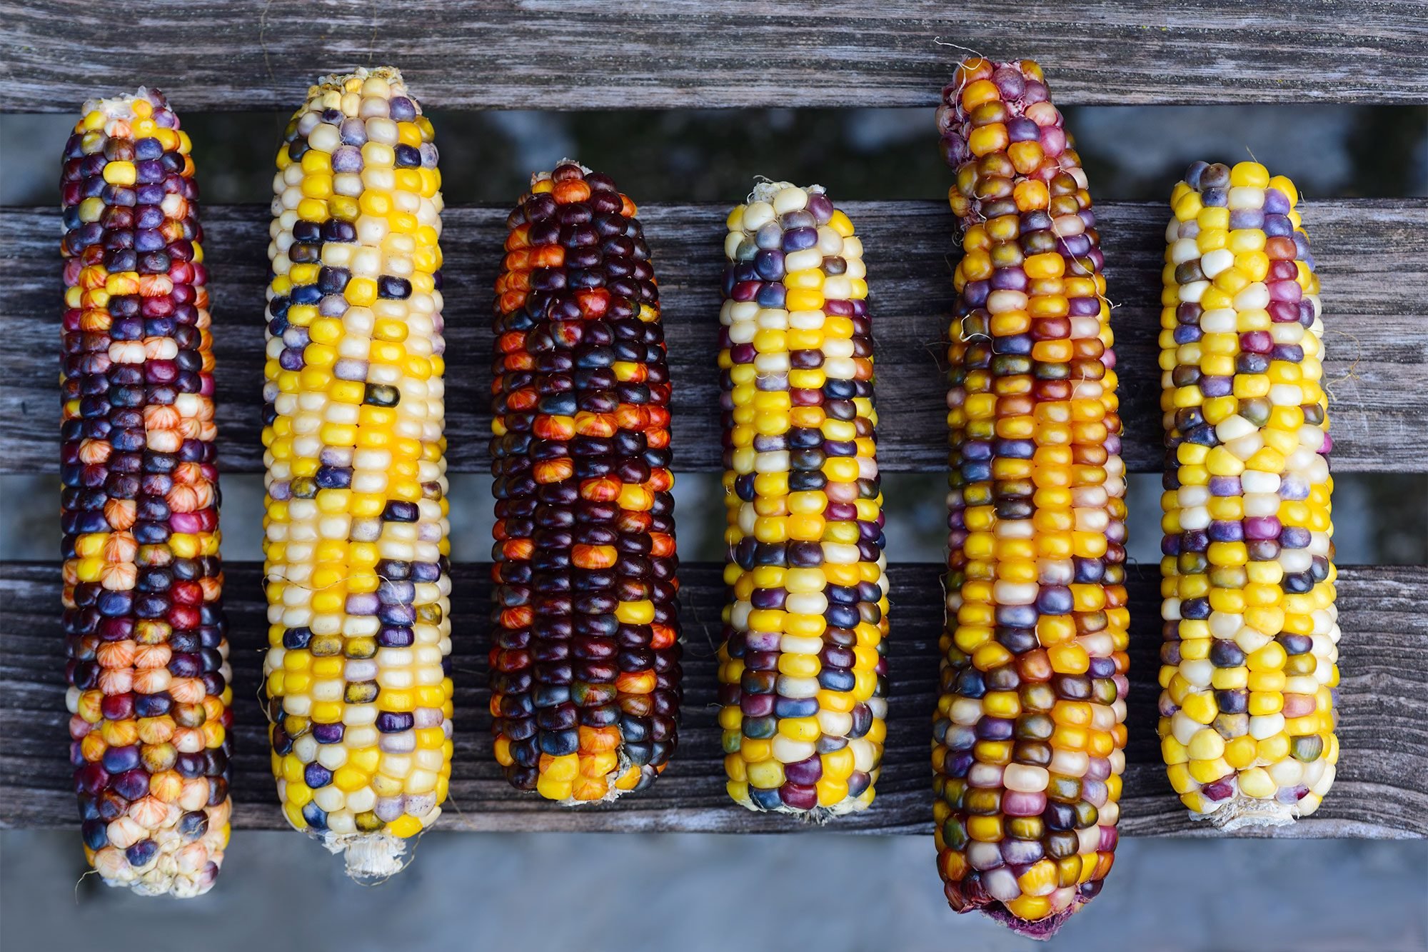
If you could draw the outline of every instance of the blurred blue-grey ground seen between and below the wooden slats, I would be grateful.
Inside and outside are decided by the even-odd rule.
[[[181,107],[181,101],[178,103]],[[77,104],[76,104],[77,106]],[[1195,159],[1252,154],[1325,197],[1428,194],[1428,109],[1411,106],[1067,107],[1098,202],[1164,202]],[[183,114],[204,200],[267,203],[286,116]],[[733,204],[754,174],[820,182],[838,200],[938,199],[950,172],[921,109],[436,110],[448,204],[513,202],[533,170],[578,157],[637,202]],[[0,204],[57,202],[71,116],[0,116]],[[1371,227],[1371,223],[1365,223]],[[3,252],[0,252],[3,253]],[[1321,254],[1332,254],[1332,249]],[[877,287],[874,286],[874,294]],[[453,477],[453,555],[490,550],[488,479]],[[942,556],[941,475],[891,475],[890,557]],[[680,553],[723,556],[717,476],[681,473]],[[1131,557],[1158,557],[1158,477],[1131,479]],[[0,559],[53,559],[54,477],[0,476]],[[224,476],[224,556],[260,559],[263,486]],[[1341,563],[1428,562],[1428,477],[1335,477]],[[731,806],[731,809],[734,809]],[[874,806],[874,809],[877,809]],[[187,902],[80,881],[71,830],[0,833],[0,945],[10,949],[483,948],[678,945],[860,949],[1034,948],[944,903],[930,838],[428,833],[391,882],[361,889],[296,833],[234,836],[218,886]],[[76,885],[77,883],[77,885]],[[73,889],[71,889],[73,888]],[[1055,949],[1428,949],[1428,843],[1128,839],[1101,896]],[[257,913],[257,915],[254,915]],[[180,939],[178,936],[184,936]]]

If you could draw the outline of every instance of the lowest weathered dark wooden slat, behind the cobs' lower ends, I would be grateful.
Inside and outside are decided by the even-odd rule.
[[[227,605],[237,706],[237,825],[276,828],[263,715],[257,703],[266,643],[254,563],[230,565]],[[927,833],[931,828],[930,715],[935,705],[940,566],[894,565],[888,749],[874,806],[825,829]],[[1132,836],[1208,835],[1171,793],[1155,740],[1160,648],[1154,569],[1131,575],[1131,743],[1121,829]],[[808,829],[787,818],[750,813],[724,795],[715,722],[714,649],[724,599],[720,566],[681,569],[685,702],[680,748],[645,793],[614,806],[564,809],[520,795],[491,759],[486,690],[488,572],[454,570],[453,659],[457,760],[451,808],[441,823],[473,830],[718,830]],[[1338,782],[1318,813],[1277,836],[1415,838],[1428,835],[1428,567],[1345,567],[1339,575],[1344,626]],[[64,640],[59,632],[59,567],[0,563],[0,828],[74,822],[64,712]]]

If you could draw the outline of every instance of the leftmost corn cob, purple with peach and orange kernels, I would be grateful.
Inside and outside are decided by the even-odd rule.
[[[213,339],[188,136],[159,90],[89,101],[64,147],[66,703],[84,855],[207,892],[228,842]]]

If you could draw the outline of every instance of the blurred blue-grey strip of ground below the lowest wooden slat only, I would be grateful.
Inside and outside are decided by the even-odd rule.
[[[1428,843],[1122,842],[1048,945],[942,899],[927,836],[428,833],[381,886],[290,832],[240,832],[211,893],[143,899],[79,836],[0,835],[7,952],[1421,952]],[[76,885],[77,883],[77,885]]]

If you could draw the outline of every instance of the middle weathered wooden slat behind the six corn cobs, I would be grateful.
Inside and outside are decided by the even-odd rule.
[[[873,286],[878,360],[878,455],[888,472],[947,465],[941,337],[952,307],[951,264],[960,247],[940,202],[851,202],[864,236]],[[1165,212],[1158,204],[1098,209],[1115,302],[1125,462],[1161,466],[1160,269]],[[670,342],[675,467],[720,467],[714,347],[725,209],[651,204],[641,210],[655,254]],[[227,472],[263,466],[260,393],[263,286],[268,212],[207,209],[218,385],[218,455]],[[1428,200],[1312,202],[1305,217],[1324,276],[1332,393],[1334,466],[1339,472],[1428,472],[1418,450],[1428,390]],[[506,234],[506,210],[454,207],[444,219],[447,319],[447,442],[453,472],[484,472],[490,435],[488,330],[491,286]],[[10,292],[0,327],[11,360],[0,375],[0,473],[59,469],[57,352],[59,216],[0,209],[0,269]]]

